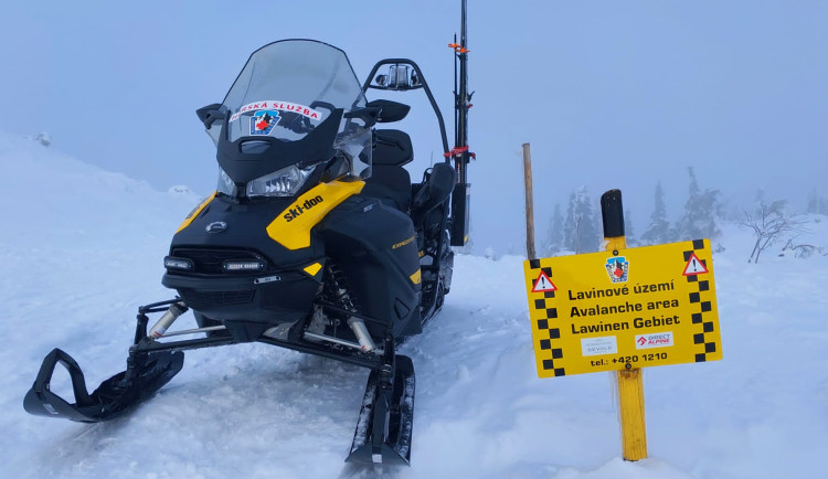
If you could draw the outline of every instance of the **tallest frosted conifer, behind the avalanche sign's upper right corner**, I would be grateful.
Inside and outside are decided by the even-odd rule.
[[[716,224],[716,216],[721,209],[719,190],[701,191],[693,168],[689,167],[687,170],[690,174],[690,188],[687,203],[684,203],[684,215],[676,227],[675,241],[719,237],[722,233]]]

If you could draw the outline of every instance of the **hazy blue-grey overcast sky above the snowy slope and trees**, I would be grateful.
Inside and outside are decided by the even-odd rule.
[[[453,124],[459,0],[172,3],[4,2],[0,130],[46,130],[84,161],[208,194],[217,167],[194,110],[288,38],[341,47],[360,77],[411,57]],[[824,0],[469,0],[477,246],[522,251],[523,142],[539,235],[580,185],[596,201],[622,189],[640,234],[661,181],[677,220],[689,166],[734,206],[756,188],[800,209],[828,196],[826,25]],[[391,98],[414,105],[418,179],[440,157],[436,123],[422,99]]]

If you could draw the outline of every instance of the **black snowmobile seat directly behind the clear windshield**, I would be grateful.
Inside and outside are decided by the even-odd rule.
[[[411,207],[411,175],[403,164],[414,159],[408,134],[400,130],[376,130],[371,177],[365,180],[364,194],[404,213]]]

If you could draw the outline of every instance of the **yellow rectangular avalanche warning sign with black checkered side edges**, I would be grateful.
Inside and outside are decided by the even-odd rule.
[[[523,272],[540,377],[722,359],[709,240],[531,259]]]

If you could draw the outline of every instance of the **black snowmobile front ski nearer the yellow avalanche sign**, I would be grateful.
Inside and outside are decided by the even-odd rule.
[[[410,358],[397,355],[368,377],[346,462],[408,466],[413,426],[414,365]]]

